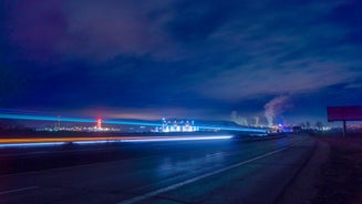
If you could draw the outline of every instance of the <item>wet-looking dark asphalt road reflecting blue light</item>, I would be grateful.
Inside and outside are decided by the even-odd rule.
[[[308,136],[287,136],[8,151],[2,164],[13,157],[35,167],[0,175],[0,204],[275,203],[314,144]],[[76,162],[56,165],[65,159]]]

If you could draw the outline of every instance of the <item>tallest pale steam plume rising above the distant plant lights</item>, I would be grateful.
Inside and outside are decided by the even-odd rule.
[[[272,99],[271,101],[269,101],[263,108],[265,108],[265,116],[268,120],[268,125],[272,125],[273,124],[273,119],[276,118],[276,115],[282,113],[287,108],[287,100],[289,96],[287,95],[280,95],[277,96],[275,99]]]

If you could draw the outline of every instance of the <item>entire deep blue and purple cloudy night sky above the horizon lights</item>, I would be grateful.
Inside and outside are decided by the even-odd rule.
[[[362,104],[360,0],[0,3],[0,109],[266,124]]]

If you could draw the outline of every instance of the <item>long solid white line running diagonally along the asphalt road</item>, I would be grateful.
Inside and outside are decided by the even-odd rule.
[[[143,200],[146,200],[146,198],[153,197],[153,196],[155,196],[155,195],[158,195],[158,194],[162,194],[162,193],[165,193],[165,192],[168,192],[168,191],[175,190],[175,188],[177,188],[177,187],[184,186],[184,185],[186,185],[186,184],[194,183],[194,182],[199,181],[199,180],[201,180],[201,178],[205,178],[205,177],[208,177],[208,176],[211,176],[211,175],[215,175],[215,174],[218,174],[218,173],[221,173],[221,172],[225,172],[225,171],[228,171],[228,170],[231,170],[231,169],[235,169],[235,167],[238,167],[238,166],[241,166],[241,165],[248,164],[248,163],[254,162],[254,161],[256,161],[256,160],[260,160],[260,159],[266,157],[266,156],[269,156],[269,155],[271,155],[271,154],[275,154],[275,153],[281,152],[281,151],[286,150],[286,149],[287,149],[287,147],[282,147],[282,149],[279,149],[279,150],[276,150],[276,151],[271,151],[271,152],[268,152],[268,153],[261,154],[261,155],[259,155],[259,156],[256,156],[256,157],[252,157],[252,159],[246,160],[246,161],[244,161],[244,162],[240,162],[240,163],[237,163],[237,164],[232,164],[232,165],[226,166],[226,167],[220,169],[220,170],[217,170],[217,171],[215,171],[215,172],[206,173],[206,174],[203,174],[203,175],[200,175],[200,176],[197,176],[197,177],[194,177],[194,178],[189,178],[189,180],[186,180],[186,181],[184,181],[184,182],[176,183],[176,184],[169,185],[169,186],[164,187],[164,188],[159,188],[159,190],[156,190],[156,191],[153,191],[153,192],[149,192],[149,193],[146,193],[146,194],[143,194],[143,195],[139,195],[139,196],[136,196],[136,197],[130,198],[130,200],[125,200],[125,201],[123,201],[123,202],[120,202],[118,204],[132,204],[132,203],[136,203],[136,202],[143,201]]]

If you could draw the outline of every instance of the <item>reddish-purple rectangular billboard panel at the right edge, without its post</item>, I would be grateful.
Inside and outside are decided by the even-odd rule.
[[[362,121],[362,106],[328,106],[328,121]]]

